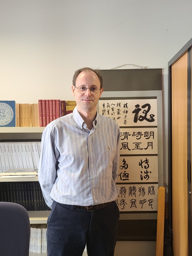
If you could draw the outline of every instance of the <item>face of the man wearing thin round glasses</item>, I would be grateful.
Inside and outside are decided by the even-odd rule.
[[[86,88],[98,87],[100,89],[100,81],[98,76],[93,72],[81,72],[76,79],[76,87],[84,86]],[[97,104],[103,88],[99,90],[98,94],[91,94],[90,90],[87,89],[84,94],[78,92],[78,89],[72,86],[73,96],[75,96],[77,109],[79,111],[93,111],[97,109]]]

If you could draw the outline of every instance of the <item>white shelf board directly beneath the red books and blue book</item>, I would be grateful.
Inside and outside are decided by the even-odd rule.
[[[0,133],[42,133],[45,127],[0,127]]]

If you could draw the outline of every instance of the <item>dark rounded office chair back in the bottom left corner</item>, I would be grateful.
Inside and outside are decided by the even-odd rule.
[[[0,255],[29,256],[30,222],[17,203],[0,202]]]

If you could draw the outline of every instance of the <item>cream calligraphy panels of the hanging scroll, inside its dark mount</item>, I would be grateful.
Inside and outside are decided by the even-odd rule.
[[[157,97],[100,98],[99,113],[121,130],[116,203],[121,212],[157,211]]]

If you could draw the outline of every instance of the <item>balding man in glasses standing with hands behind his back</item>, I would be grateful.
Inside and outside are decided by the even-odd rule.
[[[98,70],[73,76],[73,113],[54,120],[42,135],[38,177],[47,205],[48,256],[112,256],[119,209],[120,128],[97,112],[103,92]]]

